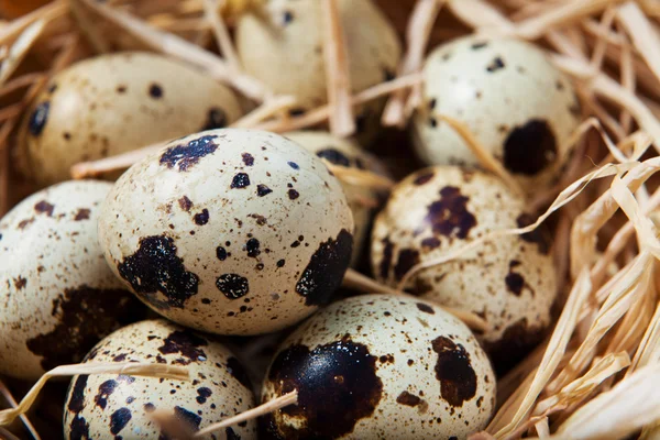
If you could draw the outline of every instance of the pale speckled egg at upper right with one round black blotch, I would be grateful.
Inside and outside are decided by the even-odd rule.
[[[570,79],[543,52],[517,40],[469,36],[431,52],[424,102],[413,131],[431,165],[479,165],[444,114],[468,125],[529,191],[553,183],[570,158],[566,141],[580,123]]]

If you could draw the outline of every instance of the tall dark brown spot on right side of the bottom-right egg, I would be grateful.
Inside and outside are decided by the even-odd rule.
[[[436,338],[432,348],[438,353],[436,377],[440,381],[440,394],[449,405],[463,406],[476,394],[476,374],[472,369],[470,353],[463,345],[446,337]]]

